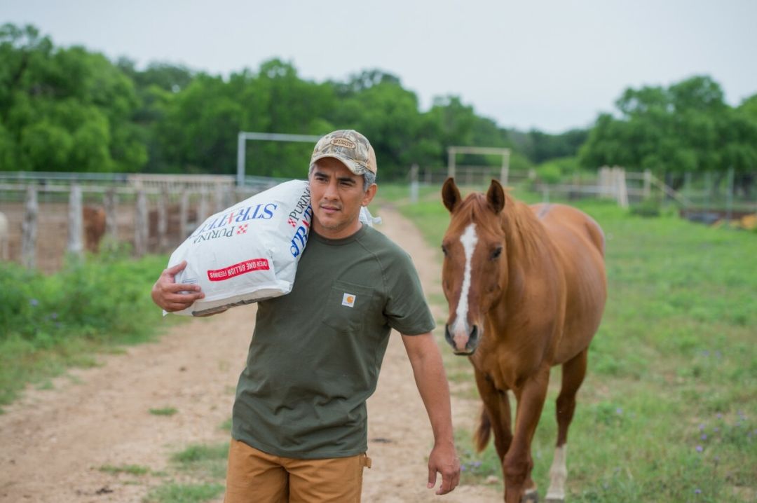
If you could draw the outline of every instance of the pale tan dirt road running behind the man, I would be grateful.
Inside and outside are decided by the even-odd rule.
[[[391,208],[378,213],[384,220],[378,229],[413,256],[426,293],[438,293],[435,250]],[[444,317],[441,306],[434,309],[437,319]],[[148,474],[133,483],[100,468],[134,464],[157,473],[170,469],[170,455],[190,444],[226,441],[220,425],[231,415],[254,310],[192,320],[157,343],[68,372],[53,390],[27,390],[0,415],[0,501],[139,502],[164,479]],[[460,486],[444,498],[425,488],[431,427],[398,334],[391,336],[368,407],[373,467],[365,473],[363,501],[501,501],[497,485]],[[159,408],[177,412],[151,414]],[[453,398],[456,426],[470,426],[477,414],[477,402]]]

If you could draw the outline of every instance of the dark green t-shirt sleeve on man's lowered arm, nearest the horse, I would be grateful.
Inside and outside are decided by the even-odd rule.
[[[385,271],[385,281],[388,295],[384,314],[389,326],[404,335],[419,335],[434,330],[434,317],[428,309],[410,255],[398,250]]]

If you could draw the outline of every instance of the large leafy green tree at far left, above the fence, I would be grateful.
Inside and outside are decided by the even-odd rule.
[[[54,48],[33,26],[0,29],[2,169],[136,170],[144,145],[132,128],[132,82],[81,47]]]

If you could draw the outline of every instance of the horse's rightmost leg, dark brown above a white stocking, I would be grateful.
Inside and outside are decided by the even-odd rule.
[[[550,467],[550,489],[547,490],[548,503],[565,501],[565,480],[568,479],[568,428],[575,412],[575,396],[584,382],[587,365],[587,350],[562,365],[562,386],[557,396],[557,446]]]

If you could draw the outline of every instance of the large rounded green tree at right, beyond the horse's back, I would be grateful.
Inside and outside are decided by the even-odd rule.
[[[734,115],[709,76],[668,88],[628,88],[616,106],[619,116],[597,119],[579,152],[581,165],[650,169],[678,188],[685,172],[722,175],[749,163],[749,123]]]

